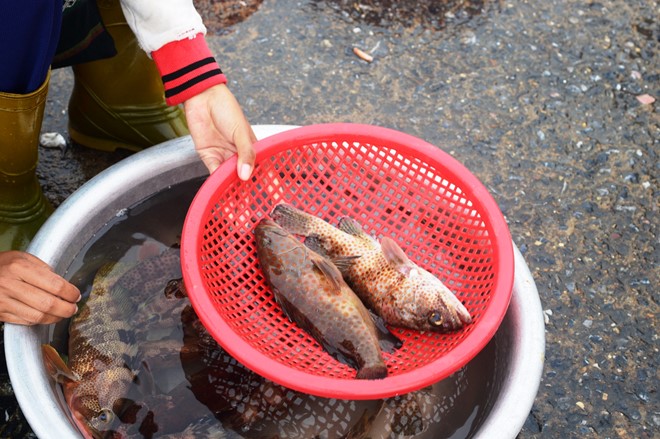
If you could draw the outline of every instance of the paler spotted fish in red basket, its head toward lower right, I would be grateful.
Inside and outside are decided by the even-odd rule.
[[[272,219],[287,231],[305,236],[305,245],[331,258],[353,291],[393,326],[449,332],[472,318],[440,279],[412,262],[389,237],[380,243],[352,218],[335,228],[316,216],[281,203]]]

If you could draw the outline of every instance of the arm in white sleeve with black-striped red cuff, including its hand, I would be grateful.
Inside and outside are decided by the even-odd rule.
[[[192,1],[122,0],[122,9],[158,67],[167,103],[184,105],[190,135],[206,167],[213,172],[237,153],[238,175],[247,180],[256,138],[206,44],[206,28]]]

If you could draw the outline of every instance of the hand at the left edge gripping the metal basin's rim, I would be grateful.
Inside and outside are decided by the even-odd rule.
[[[41,259],[0,252],[0,321],[19,325],[55,323],[78,311],[80,291]]]

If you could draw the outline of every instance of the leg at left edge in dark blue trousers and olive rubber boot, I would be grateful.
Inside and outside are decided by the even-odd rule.
[[[1,8],[0,59],[5,62],[0,63],[0,251],[4,251],[25,249],[52,212],[36,167],[62,1],[2,1]]]

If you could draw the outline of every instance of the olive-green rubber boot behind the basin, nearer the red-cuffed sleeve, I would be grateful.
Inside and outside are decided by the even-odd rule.
[[[138,46],[119,1],[97,5],[117,55],[73,67],[71,139],[102,151],[139,151],[187,135],[183,111],[165,103],[156,65]]]

